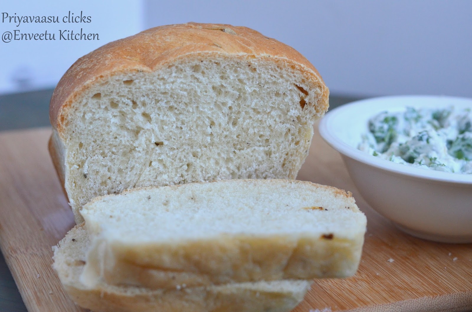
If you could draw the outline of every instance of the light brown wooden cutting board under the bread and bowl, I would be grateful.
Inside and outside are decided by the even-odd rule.
[[[50,133],[0,132],[0,247],[30,312],[84,311],[51,269],[51,246],[74,218],[46,149]],[[298,179],[353,192],[368,232],[357,274],[315,281],[296,312],[472,311],[471,244],[434,243],[396,230],[364,202],[318,131]]]

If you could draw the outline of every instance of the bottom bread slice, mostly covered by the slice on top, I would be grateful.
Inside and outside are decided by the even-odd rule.
[[[211,287],[150,290],[100,284],[85,287],[79,280],[90,241],[83,225],[70,230],[54,246],[53,268],[67,293],[95,312],[244,312],[292,310],[310,288],[305,280],[240,283]]]

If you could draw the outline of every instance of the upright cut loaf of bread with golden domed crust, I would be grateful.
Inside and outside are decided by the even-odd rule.
[[[124,189],[295,179],[328,95],[306,58],[252,29],[160,26],[67,70],[49,147],[79,224],[84,204]]]

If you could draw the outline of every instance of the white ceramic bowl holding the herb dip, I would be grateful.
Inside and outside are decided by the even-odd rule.
[[[405,107],[472,107],[472,99],[390,96],[365,99],[329,111],[320,134],[344,160],[362,197],[401,230],[439,242],[472,242],[472,174],[420,169],[357,149],[367,121],[381,111]]]

